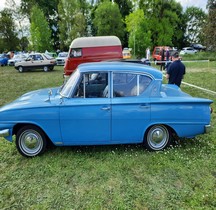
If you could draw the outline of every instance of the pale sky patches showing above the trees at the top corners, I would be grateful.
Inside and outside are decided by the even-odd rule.
[[[4,9],[6,1],[7,0],[0,0],[0,10]],[[17,3],[20,3],[20,1],[21,0],[15,0],[15,2]],[[180,2],[184,9],[186,9],[187,7],[195,6],[207,12],[206,4],[208,0],[176,0],[176,1]]]

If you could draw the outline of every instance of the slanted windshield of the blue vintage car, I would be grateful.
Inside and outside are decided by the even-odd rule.
[[[63,97],[70,97],[72,90],[74,90],[74,86],[77,83],[77,80],[80,77],[80,72],[76,70],[69,78],[69,80],[63,86],[60,94]]]

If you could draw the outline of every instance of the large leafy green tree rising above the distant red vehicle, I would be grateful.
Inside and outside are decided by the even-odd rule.
[[[179,3],[175,0],[140,0],[139,8],[143,9],[148,20],[154,46],[178,46],[182,42],[183,9]]]

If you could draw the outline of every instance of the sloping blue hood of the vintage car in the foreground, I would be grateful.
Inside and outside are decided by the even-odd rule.
[[[35,107],[50,107],[59,104],[59,87],[28,92],[15,101],[0,108],[0,111]]]

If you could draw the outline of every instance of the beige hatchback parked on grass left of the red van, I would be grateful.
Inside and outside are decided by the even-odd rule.
[[[24,61],[15,63],[15,69],[20,73],[26,70],[43,69],[45,72],[53,70],[56,60],[43,53],[33,53]]]

